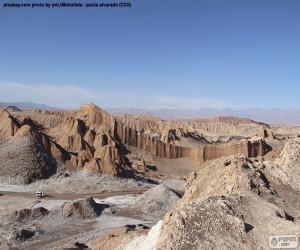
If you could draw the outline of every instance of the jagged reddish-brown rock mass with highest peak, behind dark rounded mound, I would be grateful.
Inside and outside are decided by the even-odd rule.
[[[33,110],[29,115],[39,122],[27,113],[17,112],[13,116],[3,110],[0,142],[28,137],[41,145],[47,154],[74,169],[130,175],[123,152],[126,149],[113,137],[111,130],[114,118],[98,107],[83,105],[77,113]]]

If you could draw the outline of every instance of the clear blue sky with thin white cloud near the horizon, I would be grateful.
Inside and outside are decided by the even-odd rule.
[[[300,108],[299,0],[132,3],[1,6],[0,101]]]

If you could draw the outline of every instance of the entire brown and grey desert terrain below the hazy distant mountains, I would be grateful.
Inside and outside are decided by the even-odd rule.
[[[269,249],[299,237],[299,135],[92,103],[1,107],[0,248]]]

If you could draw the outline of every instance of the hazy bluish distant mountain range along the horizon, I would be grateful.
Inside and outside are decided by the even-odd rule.
[[[45,104],[32,102],[0,102],[0,107],[16,106],[19,109],[41,108],[57,109]],[[216,116],[245,117],[255,121],[266,122],[275,125],[300,125],[300,109],[209,109],[175,110],[175,109],[138,109],[138,108],[104,108],[114,115],[150,115],[161,119],[194,119]]]

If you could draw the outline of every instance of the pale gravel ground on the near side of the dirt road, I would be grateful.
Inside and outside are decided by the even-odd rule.
[[[97,203],[105,203],[114,208],[129,206],[134,203],[136,195],[124,195],[109,197],[106,199],[95,199]],[[11,243],[18,249],[59,249],[60,247],[74,246],[75,242],[89,245],[96,237],[107,231],[128,224],[153,225],[153,221],[136,219],[125,216],[116,216],[110,209],[104,210],[102,214],[93,219],[79,219],[65,217],[61,213],[61,207],[70,200],[46,200],[35,203],[36,200],[25,197],[0,196],[0,242],[6,240],[14,229],[32,229],[35,235],[21,242]],[[25,221],[12,221],[10,218],[14,210],[23,208],[44,207],[50,210],[50,214],[38,219]],[[1,244],[0,244],[0,249]]]

